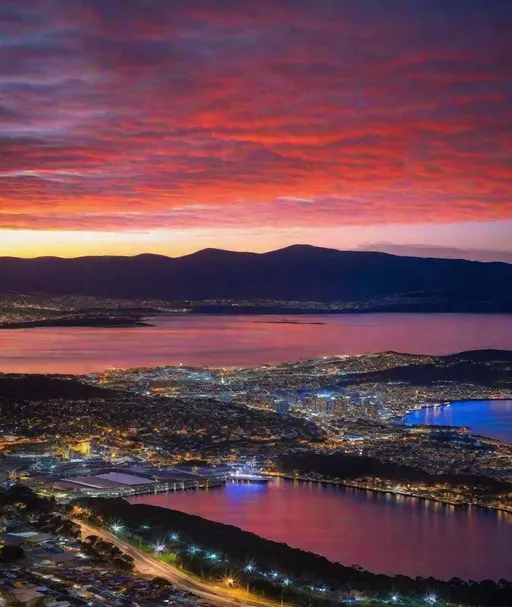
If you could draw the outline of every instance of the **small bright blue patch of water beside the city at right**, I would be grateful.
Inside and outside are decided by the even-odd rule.
[[[428,407],[405,418],[410,425],[468,426],[475,434],[512,444],[512,400],[460,401]]]

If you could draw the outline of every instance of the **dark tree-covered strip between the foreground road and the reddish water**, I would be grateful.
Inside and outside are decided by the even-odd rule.
[[[237,574],[238,570],[242,570],[251,560],[265,571],[276,570],[289,576],[294,581],[294,586],[318,587],[319,584],[324,584],[332,590],[352,590],[376,596],[400,592],[420,597],[435,591],[440,598],[448,602],[489,607],[512,605],[512,584],[506,580],[485,580],[478,583],[458,578],[440,581],[434,578],[374,574],[357,566],[346,567],[313,553],[265,540],[238,527],[208,521],[176,510],[145,504],[128,504],[120,498],[84,498],[79,503],[88,507],[93,516],[101,516],[105,522],[120,519],[130,530],[140,530],[142,525],[148,525],[150,530],[145,533],[149,534],[147,537],[151,541],[161,541],[172,533],[179,533],[180,540],[186,544],[197,545],[227,557],[230,570],[235,568]],[[187,557],[186,550],[183,550],[183,555],[180,551],[180,558],[183,559],[185,567],[193,571],[198,570],[198,561]],[[204,563],[204,559],[202,562]],[[268,582],[262,582],[266,584],[266,588],[263,588],[254,578],[244,578],[243,574],[240,574],[240,580],[272,595],[272,585]],[[275,591],[274,585],[274,595]]]

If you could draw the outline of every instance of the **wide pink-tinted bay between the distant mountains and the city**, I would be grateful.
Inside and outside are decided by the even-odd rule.
[[[0,372],[90,373],[106,367],[250,366],[395,350],[508,349],[512,315],[173,315],[154,327],[0,330]]]

